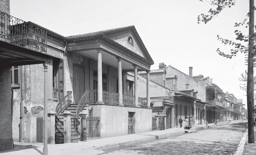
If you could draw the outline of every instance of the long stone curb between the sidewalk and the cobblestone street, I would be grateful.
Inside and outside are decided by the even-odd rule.
[[[209,125],[209,126],[203,126],[203,127],[195,127],[192,130],[204,130],[204,129],[208,129],[208,128],[211,128],[211,127],[221,126],[221,125],[226,125],[226,124],[228,124],[228,123],[222,123],[222,124],[218,124],[218,125]],[[159,140],[159,139],[162,139],[162,138],[176,137],[176,136],[183,135],[183,134],[185,134],[185,131],[174,132],[174,133],[165,133],[165,134],[162,134],[162,135],[156,135],[156,136],[152,136],[152,137],[142,138],[142,139],[139,139],[139,140],[131,140],[131,141],[124,142],[124,143],[115,143],[115,144],[111,144],[111,145],[104,145],[104,146],[101,146],[101,147],[95,147],[93,149],[110,152],[110,151],[117,150],[117,149],[120,149],[120,148],[130,147],[132,145],[139,145],[139,144],[142,144],[142,143],[148,143],[148,142],[152,142],[152,141]]]

